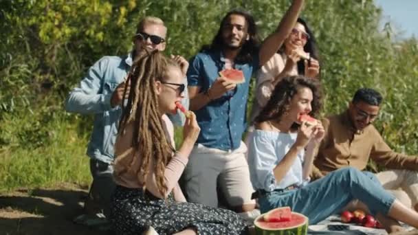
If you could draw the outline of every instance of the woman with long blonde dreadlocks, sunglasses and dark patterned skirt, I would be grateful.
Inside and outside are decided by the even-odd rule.
[[[129,98],[123,107],[115,144],[112,222],[116,234],[245,234],[247,228],[232,211],[186,203],[177,181],[188,162],[200,128],[190,112],[184,140],[175,150],[173,124],[166,113],[176,111],[185,89],[175,60],[160,52],[137,56],[126,82]],[[126,88],[125,88],[126,89]]]

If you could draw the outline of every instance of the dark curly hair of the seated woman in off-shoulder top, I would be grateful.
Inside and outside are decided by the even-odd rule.
[[[305,76],[290,76],[283,78],[272,93],[272,97],[267,102],[260,114],[256,117],[256,122],[265,122],[269,120],[280,121],[283,114],[289,109],[292,98],[298,93],[302,87],[311,89],[314,98],[311,102],[312,111],[309,115],[315,117],[322,107],[322,91],[320,82],[313,78]],[[292,126],[297,128],[297,125]]]

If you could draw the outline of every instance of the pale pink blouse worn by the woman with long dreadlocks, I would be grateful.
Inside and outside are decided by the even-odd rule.
[[[173,123],[168,119],[166,115],[162,117],[165,127],[166,134],[170,138],[170,142],[174,146],[174,128]],[[140,175],[137,175],[135,172],[140,168],[141,156],[135,153],[135,150],[131,146],[133,139],[133,128],[132,124],[128,124],[125,128],[123,134],[119,134],[116,138],[115,143],[115,162],[114,162],[114,172],[113,177],[115,182],[126,188],[142,188],[143,185],[140,183]],[[155,181],[154,173],[154,159],[151,158],[149,174],[145,180],[146,190],[151,192],[155,197],[163,198],[157,189],[157,183]],[[186,201],[184,194],[179,188],[179,178],[183,172],[186,164],[188,162],[187,156],[181,156],[176,153],[170,162],[167,164],[164,170],[164,177],[166,179],[167,193],[164,195],[164,198],[168,196],[170,192],[173,192],[175,201]]]

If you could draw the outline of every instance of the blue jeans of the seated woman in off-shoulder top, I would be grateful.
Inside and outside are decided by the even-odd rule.
[[[351,200],[359,199],[372,214],[388,214],[395,197],[386,192],[377,178],[355,168],[341,168],[303,188],[285,192],[270,192],[260,197],[262,213],[289,206],[292,211],[305,214],[310,224],[339,212]]]

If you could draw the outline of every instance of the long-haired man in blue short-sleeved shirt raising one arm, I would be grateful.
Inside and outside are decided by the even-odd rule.
[[[250,78],[281,47],[296,24],[303,0],[294,0],[276,30],[259,46],[253,17],[241,10],[228,12],[212,45],[192,58],[188,69],[190,109],[196,111],[201,133],[185,171],[188,200],[218,206],[217,187],[229,207],[253,217],[255,208],[247,148],[241,141]],[[219,78],[222,69],[239,69],[245,82]]]

